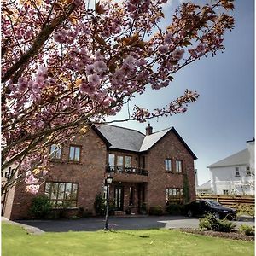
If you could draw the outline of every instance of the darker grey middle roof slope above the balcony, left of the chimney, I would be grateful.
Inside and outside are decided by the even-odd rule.
[[[139,152],[145,135],[139,131],[114,125],[96,127],[110,143],[109,148]]]

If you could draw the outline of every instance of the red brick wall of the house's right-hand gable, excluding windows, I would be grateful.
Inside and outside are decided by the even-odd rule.
[[[183,143],[172,132],[168,132],[146,155],[148,169],[148,207],[166,206],[166,188],[183,188],[183,173],[166,172],[165,160],[172,159],[172,170],[175,160],[183,161],[183,173],[189,181],[190,201],[195,199],[194,160]]]

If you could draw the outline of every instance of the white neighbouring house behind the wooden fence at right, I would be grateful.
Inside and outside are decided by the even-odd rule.
[[[207,166],[213,194],[254,195],[254,138],[247,148]]]

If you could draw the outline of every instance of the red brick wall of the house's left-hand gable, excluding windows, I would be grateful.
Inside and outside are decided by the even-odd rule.
[[[64,145],[61,162],[51,162],[46,181],[79,183],[78,207],[94,212],[96,194],[102,191],[107,159],[107,148],[95,131],[77,137],[73,145],[82,146],[80,163],[68,163],[69,146]],[[44,194],[44,184],[38,195]],[[15,189],[15,200],[10,218],[26,218],[31,206],[31,195],[25,192],[25,184]]]

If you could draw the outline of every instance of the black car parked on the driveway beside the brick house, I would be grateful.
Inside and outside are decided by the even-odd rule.
[[[236,217],[236,210],[224,207],[218,201],[213,200],[195,200],[185,206],[185,211],[189,217],[203,216],[207,213],[212,213],[216,218]]]

